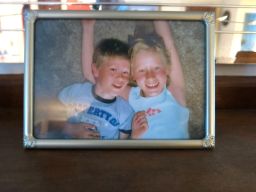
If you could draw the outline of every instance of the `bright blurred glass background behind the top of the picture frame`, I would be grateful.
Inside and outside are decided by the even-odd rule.
[[[120,11],[215,11],[217,63],[234,63],[239,51],[256,51],[256,4],[250,0],[0,0],[0,63],[24,62],[23,6],[51,10],[56,7],[53,3],[62,10],[101,10],[107,6],[95,4],[103,3],[112,4],[111,9]],[[117,6],[123,3],[129,6]],[[223,20],[225,12],[230,17]]]

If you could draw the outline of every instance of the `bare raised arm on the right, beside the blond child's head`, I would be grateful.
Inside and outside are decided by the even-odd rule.
[[[170,25],[167,21],[154,21],[154,26],[157,34],[163,38],[165,47],[171,57],[170,85],[168,89],[181,105],[186,106],[184,75]]]

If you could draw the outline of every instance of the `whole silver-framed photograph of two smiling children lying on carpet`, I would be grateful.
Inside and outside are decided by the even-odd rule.
[[[213,148],[212,12],[24,12],[25,148]]]

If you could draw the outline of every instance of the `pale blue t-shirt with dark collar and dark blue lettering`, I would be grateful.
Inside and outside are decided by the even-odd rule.
[[[106,100],[93,91],[89,82],[64,88],[59,100],[68,107],[70,123],[90,123],[96,126],[101,139],[119,139],[119,132],[129,134],[134,111],[121,97]]]

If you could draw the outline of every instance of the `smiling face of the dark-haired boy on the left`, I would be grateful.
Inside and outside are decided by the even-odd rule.
[[[96,94],[104,99],[113,99],[120,95],[129,81],[129,60],[119,56],[106,56],[99,67],[92,66]]]

